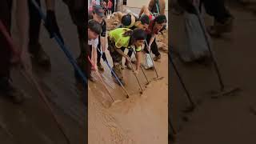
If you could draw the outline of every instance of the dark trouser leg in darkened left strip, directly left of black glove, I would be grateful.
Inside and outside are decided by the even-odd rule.
[[[41,6],[40,0],[35,0],[38,6]],[[41,16],[38,10],[35,8],[34,4],[28,0],[29,3],[29,14],[30,14],[30,29],[29,29],[29,44],[34,45],[39,42],[39,34],[41,28]]]

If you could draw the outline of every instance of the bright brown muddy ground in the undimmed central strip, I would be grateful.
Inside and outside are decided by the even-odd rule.
[[[106,20],[107,29],[116,26],[117,19]],[[89,90],[89,142],[90,143],[167,143],[167,102],[168,102],[168,58],[167,58],[167,31],[158,37],[161,47],[161,62],[155,62],[161,80],[154,81],[154,70],[144,70],[150,84],[146,85],[146,78],[138,74],[142,84],[143,94],[139,94],[139,86],[131,70],[124,70],[126,90],[130,94],[127,99],[122,87],[113,82],[110,69],[104,63],[103,79],[114,104],[102,84],[90,83]],[[107,58],[111,63],[110,55]],[[112,66],[112,63],[111,63]],[[108,108],[110,106],[110,108]]]

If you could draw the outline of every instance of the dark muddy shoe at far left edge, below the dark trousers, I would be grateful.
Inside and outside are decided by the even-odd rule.
[[[20,104],[24,101],[24,94],[22,90],[15,88],[9,78],[0,79],[0,93],[10,98],[15,104]]]

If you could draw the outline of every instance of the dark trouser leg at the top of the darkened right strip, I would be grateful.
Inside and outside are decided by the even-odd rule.
[[[206,13],[213,16],[217,22],[225,22],[230,18],[230,11],[226,9],[224,0],[202,0]]]

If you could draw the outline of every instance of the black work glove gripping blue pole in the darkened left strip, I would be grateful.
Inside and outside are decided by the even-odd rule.
[[[53,38],[55,33],[58,36],[58,38],[60,38],[62,43],[64,43],[62,35],[60,34],[60,31],[58,28],[54,10],[47,10],[45,26],[46,26],[46,30],[48,30],[50,34],[50,38]]]

